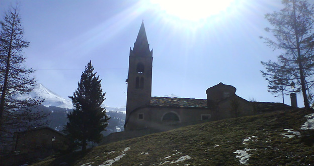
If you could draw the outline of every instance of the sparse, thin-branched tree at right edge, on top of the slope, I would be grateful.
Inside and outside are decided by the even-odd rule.
[[[280,12],[266,14],[273,28],[265,30],[274,35],[274,40],[264,39],[268,46],[285,53],[278,56],[277,62],[261,62],[267,70],[261,72],[269,82],[269,92],[302,92],[304,106],[309,108],[314,83],[313,5],[304,0],[283,0],[282,4],[284,8]],[[290,88],[291,83],[295,89]]]

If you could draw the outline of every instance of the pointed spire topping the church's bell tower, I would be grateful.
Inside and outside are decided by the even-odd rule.
[[[136,41],[134,43],[133,51],[135,55],[138,56],[147,56],[150,52],[146,31],[144,27],[144,21],[142,21],[142,25],[139,29]]]

